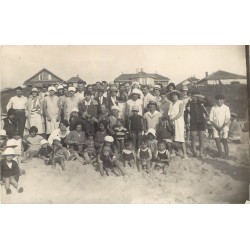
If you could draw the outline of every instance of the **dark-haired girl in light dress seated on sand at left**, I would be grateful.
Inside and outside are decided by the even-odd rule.
[[[38,155],[40,149],[41,140],[43,137],[37,135],[38,129],[35,126],[32,126],[29,130],[29,136],[26,138],[26,143],[29,145],[28,150],[25,152],[24,159],[22,162],[26,162],[31,160],[32,158]]]

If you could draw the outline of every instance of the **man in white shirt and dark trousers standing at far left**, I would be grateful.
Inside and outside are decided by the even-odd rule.
[[[15,110],[16,118],[18,121],[18,129],[22,137],[26,122],[26,116],[25,116],[26,104],[27,104],[27,97],[23,96],[23,89],[22,87],[19,86],[16,88],[16,95],[10,98],[6,106],[7,111],[10,108],[13,108]]]

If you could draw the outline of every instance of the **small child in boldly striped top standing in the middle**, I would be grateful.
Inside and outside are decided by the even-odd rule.
[[[119,153],[121,153],[124,148],[124,140],[127,138],[128,134],[128,130],[123,125],[124,125],[124,120],[122,118],[118,118],[116,126],[113,129],[115,143]]]

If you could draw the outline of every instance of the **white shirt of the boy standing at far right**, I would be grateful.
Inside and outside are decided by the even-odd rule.
[[[230,109],[225,104],[220,107],[218,105],[213,106],[209,114],[210,121],[213,121],[219,127],[222,127],[225,122],[229,123],[230,117]],[[229,131],[228,125],[223,128],[223,131]]]

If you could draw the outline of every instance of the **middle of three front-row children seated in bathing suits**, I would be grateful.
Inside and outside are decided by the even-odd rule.
[[[137,151],[137,159],[138,159],[138,171],[140,172],[142,169],[146,167],[146,172],[150,172],[151,168],[151,160],[152,160],[152,152],[148,147],[148,142],[146,139],[142,140],[141,146]]]

